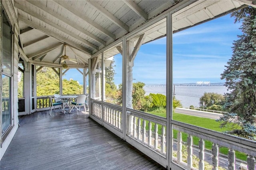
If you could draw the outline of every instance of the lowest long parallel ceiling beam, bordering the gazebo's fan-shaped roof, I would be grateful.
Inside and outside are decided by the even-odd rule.
[[[30,27],[34,27],[40,31],[42,31],[43,33],[45,33],[46,35],[49,35],[51,37],[54,37],[56,38],[58,41],[61,41],[62,43],[66,43],[68,44],[69,46],[72,46],[74,47],[75,49],[78,49],[80,51],[83,51],[84,53],[87,53],[89,55],[92,55],[92,51],[80,46],[80,45],[77,45],[75,44],[73,41],[70,41],[69,39],[67,38],[64,38],[64,37],[60,37],[60,35],[56,34],[56,33],[53,33],[52,31],[49,31],[48,29],[42,27],[42,26],[39,26],[39,25],[36,25],[34,24],[32,21],[28,20],[27,18],[24,18],[20,15],[18,15],[18,20],[19,21],[22,21],[24,22],[26,25],[29,25]]]

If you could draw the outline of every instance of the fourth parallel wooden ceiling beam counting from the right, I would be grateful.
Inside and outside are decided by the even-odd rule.
[[[103,41],[102,39],[100,39],[99,37],[96,37],[95,35],[93,35],[92,33],[84,30],[82,27],[78,27],[77,24],[74,21],[70,21],[60,15],[56,16],[56,12],[49,10],[48,8],[46,8],[46,6],[44,5],[39,5],[38,2],[34,1],[34,0],[27,0],[30,4],[34,5],[37,8],[40,8],[41,10],[43,10],[44,12],[50,14],[51,16],[53,16],[54,18],[57,18],[58,20],[63,21],[64,23],[68,24],[70,27],[80,31],[81,33],[83,33],[84,35],[90,37],[91,39],[94,39],[95,41],[97,41],[98,43],[101,43],[102,45],[106,45],[106,42]],[[76,25],[76,26],[75,26]]]

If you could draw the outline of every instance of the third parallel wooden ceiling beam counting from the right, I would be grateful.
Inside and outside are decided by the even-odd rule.
[[[96,28],[98,31],[104,33],[106,36],[112,38],[113,40],[116,40],[116,35],[112,34],[102,26],[100,26],[98,23],[94,22],[90,18],[86,17],[84,14],[80,13],[78,10],[73,8],[72,6],[68,5],[65,1],[54,1],[56,4],[62,6],[62,8],[65,8],[66,10],[70,11],[74,15],[78,16],[82,20],[86,21],[90,25],[92,25],[94,28]]]

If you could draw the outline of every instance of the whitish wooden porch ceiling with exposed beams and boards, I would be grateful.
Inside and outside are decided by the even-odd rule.
[[[38,64],[62,64],[60,56],[66,53],[76,61],[63,62],[69,66],[88,66],[91,55],[180,4],[192,3],[174,13],[174,31],[247,4],[254,5],[253,0],[14,0],[13,3],[18,14],[20,46],[27,59]],[[166,22],[160,21],[146,32],[143,43],[164,35]],[[118,50],[113,48],[108,57],[116,53]]]

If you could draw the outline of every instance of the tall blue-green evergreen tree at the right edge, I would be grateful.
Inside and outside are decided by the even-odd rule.
[[[222,126],[238,125],[230,133],[256,139],[256,9],[250,6],[233,12],[235,22],[242,21],[242,35],[233,43],[233,55],[221,78],[230,91],[224,104],[228,113],[219,120]]]

